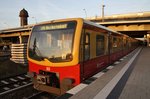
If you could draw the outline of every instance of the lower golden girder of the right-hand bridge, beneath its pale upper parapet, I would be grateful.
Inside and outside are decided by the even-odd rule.
[[[144,35],[150,33],[150,21],[137,21],[137,22],[103,22],[100,23],[115,31],[129,35],[134,38],[143,38]]]

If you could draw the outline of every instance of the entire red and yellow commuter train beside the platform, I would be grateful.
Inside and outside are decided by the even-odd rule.
[[[36,24],[29,75],[37,90],[62,95],[138,47],[139,41],[83,18]]]

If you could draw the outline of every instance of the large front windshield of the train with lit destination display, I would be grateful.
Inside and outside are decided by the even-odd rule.
[[[76,22],[35,26],[29,42],[29,57],[38,61],[71,61],[75,28]]]

